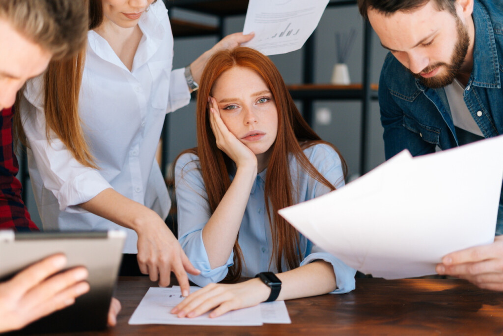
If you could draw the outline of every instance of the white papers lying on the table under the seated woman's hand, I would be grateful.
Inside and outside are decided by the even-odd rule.
[[[190,292],[201,289],[191,286]],[[229,311],[210,318],[209,313],[195,318],[179,318],[170,311],[184,298],[179,286],[172,288],[151,287],[136,307],[129,324],[185,324],[185,325],[262,325],[263,323],[291,323],[285,301],[261,303]]]

